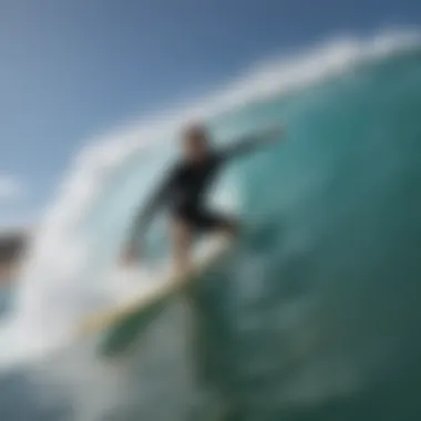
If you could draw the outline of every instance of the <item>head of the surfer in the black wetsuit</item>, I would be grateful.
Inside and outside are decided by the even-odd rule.
[[[184,157],[193,162],[202,162],[209,155],[209,134],[202,124],[192,124],[183,133]]]

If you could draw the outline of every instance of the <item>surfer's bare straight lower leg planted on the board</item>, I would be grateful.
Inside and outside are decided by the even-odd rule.
[[[174,268],[177,274],[186,273],[192,264],[192,229],[183,220],[175,219],[172,222],[172,240]]]

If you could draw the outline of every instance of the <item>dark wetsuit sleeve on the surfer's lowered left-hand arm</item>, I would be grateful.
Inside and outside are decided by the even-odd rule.
[[[153,217],[161,209],[161,207],[165,205],[165,202],[172,191],[174,176],[173,171],[165,177],[164,182],[155,191],[152,197],[148,198],[145,207],[136,216],[131,243],[135,242],[137,237],[145,235]]]

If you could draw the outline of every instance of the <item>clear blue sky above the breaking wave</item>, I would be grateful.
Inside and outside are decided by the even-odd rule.
[[[0,0],[0,224],[34,218],[91,135],[419,0]]]

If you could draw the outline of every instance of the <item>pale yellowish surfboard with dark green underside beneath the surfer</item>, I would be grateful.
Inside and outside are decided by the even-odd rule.
[[[194,264],[184,274],[171,269],[150,279],[150,286],[140,288],[130,299],[84,317],[78,328],[80,338],[101,335],[101,353],[123,352],[136,337],[165,309],[174,297],[201,276],[210,271],[227,255],[232,242],[223,236],[206,239],[195,250]]]

